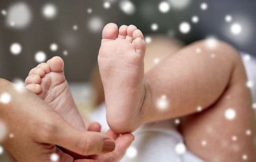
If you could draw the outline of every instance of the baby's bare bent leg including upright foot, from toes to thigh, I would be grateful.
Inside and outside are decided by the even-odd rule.
[[[99,70],[113,131],[133,132],[152,121],[180,117],[186,147],[204,161],[256,161],[253,101],[234,48],[199,41],[144,74],[140,30],[111,23],[102,37]],[[163,99],[167,104],[159,107]]]

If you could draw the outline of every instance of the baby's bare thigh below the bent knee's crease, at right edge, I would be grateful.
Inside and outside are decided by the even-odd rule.
[[[239,57],[226,90],[213,105],[182,118],[186,146],[205,161],[256,161],[256,124]],[[231,60],[231,59],[230,59]]]

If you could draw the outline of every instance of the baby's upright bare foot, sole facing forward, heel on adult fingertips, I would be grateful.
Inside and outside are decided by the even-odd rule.
[[[133,132],[141,125],[145,97],[143,34],[136,26],[107,24],[99,50],[99,71],[104,86],[107,123],[114,132]]]

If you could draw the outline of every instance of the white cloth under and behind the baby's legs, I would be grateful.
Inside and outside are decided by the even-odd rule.
[[[245,53],[241,53],[245,64],[249,81],[254,86],[251,87],[253,99],[256,101],[256,59]],[[91,121],[98,121],[102,130],[109,129],[105,117],[105,104],[102,104],[91,115]],[[176,153],[176,146],[184,145],[182,135],[174,128],[174,122],[170,120],[157,121],[145,124],[134,133],[135,140],[122,162],[202,162],[199,157],[186,150],[182,154]],[[181,147],[182,148],[182,147]],[[178,152],[182,152],[178,150]]]

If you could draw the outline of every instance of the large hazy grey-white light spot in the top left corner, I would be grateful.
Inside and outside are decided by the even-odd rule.
[[[7,13],[6,25],[16,29],[26,28],[32,19],[30,8],[24,2],[13,3],[9,6]]]

